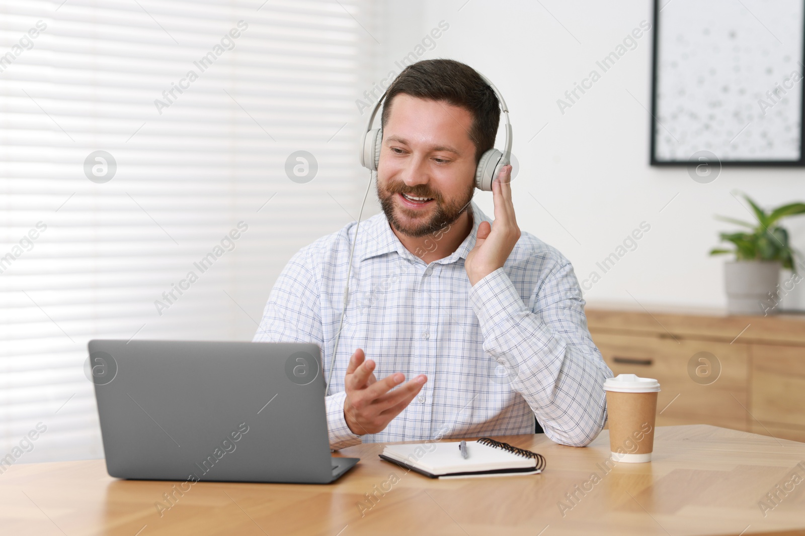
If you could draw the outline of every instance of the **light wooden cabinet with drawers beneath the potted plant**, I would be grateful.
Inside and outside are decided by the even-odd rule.
[[[657,378],[657,424],[805,440],[805,317],[587,310],[614,374]]]

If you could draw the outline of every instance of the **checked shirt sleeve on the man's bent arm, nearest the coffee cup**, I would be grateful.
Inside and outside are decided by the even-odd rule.
[[[583,447],[606,421],[603,384],[612,376],[592,342],[572,265],[558,262],[526,305],[503,268],[469,292],[484,350],[510,370],[522,395],[559,444]]]

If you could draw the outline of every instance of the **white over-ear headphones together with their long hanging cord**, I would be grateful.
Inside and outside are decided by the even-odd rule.
[[[511,143],[512,143],[512,135],[511,135],[511,123],[509,122],[509,108],[506,106],[506,100],[503,100],[503,96],[497,88],[489,81],[486,76],[481,75],[478,73],[478,76],[489,84],[489,87],[492,88],[492,91],[495,92],[497,96],[497,100],[500,101],[501,110],[503,114],[506,116],[506,146],[501,153],[497,149],[489,149],[485,153],[481,155],[481,160],[478,161],[478,166],[475,169],[475,186],[480,190],[485,191],[492,191],[492,181],[498,174],[500,174],[501,169],[503,166],[507,166],[510,163],[511,158]],[[386,99],[386,95],[388,94],[388,90],[380,97],[378,103],[374,105],[374,109],[372,110],[372,115],[369,116],[369,123],[366,125],[366,129],[363,133],[363,138],[361,139],[361,152],[359,154],[359,158],[361,160],[361,166],[364,166],[366,169],[370,171],[377,171],[378,164],[380,163],[380,145],[382,145],[383,141],[383,129],[373,129],[372,123],[374,122],[374,117],[378,114],[378,110],[380,109],[380,104],[383,100]],[[330,358],[330,366],[328,366],[329,374],[327,375],[327,387],[324,390],[324,395],[327,396],[330,392],[330,383],[332,381],[332,371],[335,370],[333,365],[336,362],[336,352],[338,351],[338,342],[341,340],[341,329],[344,327],[344,317],[347,312],[347,301],[349,300],[349,276],[352,274],[352,264],[353,264],[353,253],[355,252],[355,244],[357,243],[357,233],[361,229],[361,215],[363,215],[363,207],[366,204],[366,196],[369,195],[369,188],[372,186],[372,174],[369,174],[369,183],[366,185],[366,193],[363,195],[363,203],[361,203],[361,211],[357,215],[357,226],[355,228],[355,239],[352,244],[352,248],[349,250],[349,267],[347,268],[347,280],[344,286],[344,301],[343,305],[344,308],[341,310],[341,321],[338,322],[338,331],[336,332],[336,341],[334,344],[334,348],[332,349],[332,358]]]

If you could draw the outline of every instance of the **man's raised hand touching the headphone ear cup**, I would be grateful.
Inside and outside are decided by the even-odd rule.
[[[511,202],[511,166],[504,166],[497,179],[493,180],[492,196],[495,205],[494,226],[481,222],[475,248],[464,261],[469,283],[473,286],[497,268],[502,268],[514,244],[520,239],[520,227],[514,218],[514,204]]]

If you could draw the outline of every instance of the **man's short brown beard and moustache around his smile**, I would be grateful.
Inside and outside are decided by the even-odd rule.
[[[399,218],[398,213],[410,219],[415,219],[419,215],[419,211],[398,206],[398,203],[394,201],[394,197],[397,194],[432,198],[433,203],[436,205],[436,210],[431,211],[432,214],[429,218],[419,217],[422,221],[407,225]],[[378,200],[383,212],[386,214],[386,219],[388,219],[391,227],[411,238],[430,235],[454,223],[469,207],[470,201],[473,200],[473,194],[475,194],[474,182],[470,182],[469,188],[464,191],[460,198],[446,201],[440,192],[431,190],[428,186],[422,184],[409,187],[404,182],[389,181],[385,187],[381,187],[378,180]]]

